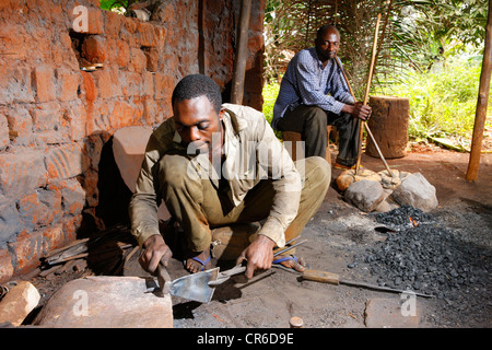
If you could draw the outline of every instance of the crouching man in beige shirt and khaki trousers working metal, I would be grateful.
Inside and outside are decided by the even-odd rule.
[[[164,200],[188,244],[186,268],[211,268],[211,230],[266,220],[238,256],[246,277],[269,269],[273,248],[297,237],[319,208],[330,184],[320,158],[296,166],[263,115],[223,104],[219,86],[201,74],[185,77],[172,97],[174,116],[150,137],[130,202],[131,231],[142,247],[140,264],[153,272],[172,257],[159,231],[157,206]],[[290,256],[281,264],[298,271]]]

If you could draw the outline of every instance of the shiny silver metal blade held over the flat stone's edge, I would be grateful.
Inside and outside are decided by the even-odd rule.
[[[214,289],[209,287],[219,275],[219,268],[201,271],[175,279],[171,285],[171,295],[208,303],[212,300]]]

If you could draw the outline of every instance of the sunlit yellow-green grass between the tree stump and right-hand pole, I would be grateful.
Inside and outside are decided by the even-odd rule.
[[[430,71],[411,71],[384,93],[409,98],[410,138],[469,138],[473,130],[480,71],[480,60],[454,59],[448,65],[435,65]]]

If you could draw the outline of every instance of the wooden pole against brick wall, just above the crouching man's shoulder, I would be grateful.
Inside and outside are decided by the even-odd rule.
[[[251,13],[251,0],[242,0],[239,13],[239,37],[234,65],[234,78],[232,83],[231,103],[243,104],[244,77],[246,73],[247,44],[249,31],[249,16]]]

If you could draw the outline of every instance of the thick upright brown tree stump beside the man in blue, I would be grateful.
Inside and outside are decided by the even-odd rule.
[[[384,158],[406,156],[409,100],[394,96],[371,96],[368,104],[373,108],[373,113],[367,125]],[[367,138],[365,153],[379,158],[371,138]]]

